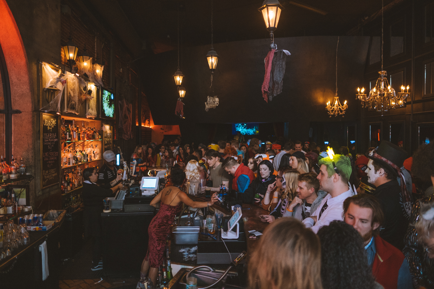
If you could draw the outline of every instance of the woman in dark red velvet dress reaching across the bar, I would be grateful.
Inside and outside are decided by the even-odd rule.
[[[157,215],[152,219],[148,227],[149,243],[148,253],[141,264],[141,281],[148,275],[155,285],[158,275],[158,267],[163,264],[163,254],[166,248],[167,235],[170,233],[174,218],[181,211],[181,205],[191,208],[205,208],[217,201],[217,193],[211,197],[211,201],[197,202],[181,191],[185,182],[185,173],[182,169],[171,170],[171,186],[164,188],[152,201],[151,206],[160,207]]]

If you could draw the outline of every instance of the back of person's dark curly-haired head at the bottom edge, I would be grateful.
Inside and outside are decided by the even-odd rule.
[[[321,279],[324,289],[375,289],[362,236],[343,221],[318,231],[321,242]]]

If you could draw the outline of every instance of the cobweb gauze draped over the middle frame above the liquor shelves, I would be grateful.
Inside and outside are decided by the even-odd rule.
[[[79,114],[82,103],[86,98],[90,97],[88,91],[87,82],[83,78],[66,72],[66,108],[64,112]]]

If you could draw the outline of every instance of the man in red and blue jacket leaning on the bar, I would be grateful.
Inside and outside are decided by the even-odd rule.
[[[244,164],[237,162],[237,156],[231,156],[224,160],[221,164],[222,168],[233,175],[232,189],[237,192],[244,192],[255,179],[255,175],[252,170]]]

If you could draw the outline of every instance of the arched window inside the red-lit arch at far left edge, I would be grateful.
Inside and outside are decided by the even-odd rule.
[[[6,61],[0,45],[0,155],[7,162],[12,158],[12,104]]]

